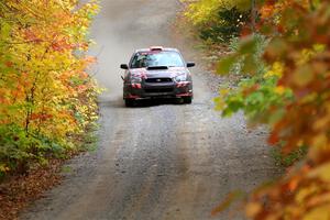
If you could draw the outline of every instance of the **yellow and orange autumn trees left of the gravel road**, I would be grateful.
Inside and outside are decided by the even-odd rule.
[[[96,2],[1,0],[0,176],[77,150],[97,119],[86,52]]]

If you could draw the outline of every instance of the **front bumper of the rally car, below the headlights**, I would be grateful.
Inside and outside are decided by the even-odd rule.
[[[123,89],[124,99],[193,97],[193,82],[128,84]]]

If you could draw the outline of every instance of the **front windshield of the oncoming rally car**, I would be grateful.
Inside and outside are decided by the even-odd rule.
[[[131,63],[131,68],[151,66],[184,67],[185,64],[177,52],[139,52]]]

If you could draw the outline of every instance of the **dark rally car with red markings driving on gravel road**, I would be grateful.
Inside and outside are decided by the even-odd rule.
[[[154,46],[138,50],[129,63],[120,67],[125,69],[123,79],[123,99],[127,107],[136,100],[150,98],[179,98],[185,103],[193,100],[193,78],[186,63],[176,48]]]

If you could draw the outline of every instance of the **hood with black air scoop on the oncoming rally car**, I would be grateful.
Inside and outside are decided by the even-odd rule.
[[[169,67],[167,69],[146,69],[134,68],[130,69],[133,76],[140,76],[142,78],[174,78],[179,75],[188,74],[188,69],[185,67]]]

